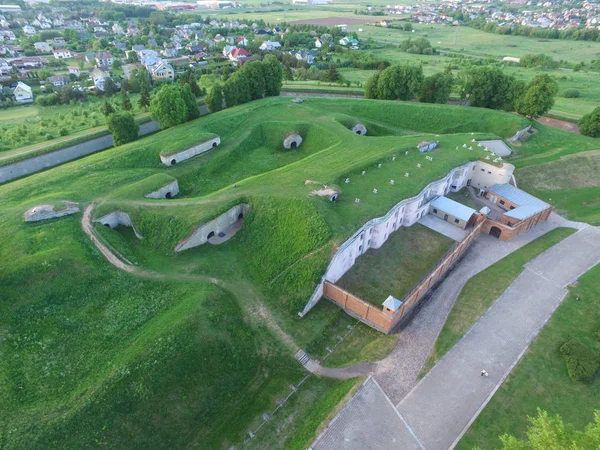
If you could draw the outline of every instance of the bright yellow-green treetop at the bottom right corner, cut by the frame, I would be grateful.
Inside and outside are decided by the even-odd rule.
[[[503,450],[562,450],[600,447],[600,411],[594,411],[594,421],[583,431],[565,425],[557,414],[549,416],[538,408],[537,417],[527,417],[531,424],[527,439],[504,434],[500,436]]]

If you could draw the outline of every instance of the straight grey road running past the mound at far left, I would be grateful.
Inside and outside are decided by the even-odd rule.
[[[158,131],[158,129],[159,125],[156,122],[143,123],[140,125],[140,136]],[[32,173],[64,164],[82,156],[99,152],[100,150],[106,150],[112,146],[112,135],[108,134],[60,150],[44,153],[43,155],[32,156],[13,164],[7,164],[0,167],[0,183],[6,183],[16,178],[31,175]]]

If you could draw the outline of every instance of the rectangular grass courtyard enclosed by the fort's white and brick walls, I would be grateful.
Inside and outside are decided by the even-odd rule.
[[[415,224],[400,228],[378,249],[369,249],[336,283],[381,307],[392,295],[402,299],[454,241]]]

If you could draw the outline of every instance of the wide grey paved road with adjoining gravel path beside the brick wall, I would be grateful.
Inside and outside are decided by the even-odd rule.
[[[557,217],[553,221],[560,222]],[[567,221],[562,223],[568,224]],[[524,234],[518,237],[521,236]],[[518,245],[516,242],[518,237],[508,245]],[[476,244],[485,243],[485,240],[487,240],[486,236],[481,236]],[[479,249],[486,247],[488,246],[484,245]],[[469,258],[463,262],[473,258],[477,248],[474,245]],[[496,259],[491,255],[488,258]],[[386,398],[376,400],[378,396],[371,393],[375,405],[369,403],[366,408],[364,402],[355,400],[362,398],[359,396],[370,395],[369,390],[374,389],[373,383],[365,384],[319,436],[312,448],[314,450],[452,448],[565,297],[567,293],[565,287],[598,262],[600,262],[600,230],[595,227],[580,229],[539,255],[526,265],[521,275],[484,316],[406,396],[404,395],[406,387],[414,383],[410,381],[410,373],[416,376],[422,363],[411,361],[410,352],[404,351],[401,342],[390,355],[391,358],[397,358],[396,363],[390,364],[388,371],[375,375],[375,381],[379,383],[374,384],[377,386],[381,384],[387,394]],[[457,276],[456,274],[461,270],[468,272],[473,269],[468,266],[469,264],[461,263],[446,278],[425,308],[434,307],[436,296],[444,297],[440,295],[440,290],[444,285],[452,284],[452,276]],[[463,278],[464,276],[459,277],[457,281]],[[453,292],[449,291],[449,294],[452,295]],[[438,303],[441,300],[438,298]],[[417,320],[413,320],[413,323],[427,318],[428,311],[423,310],[415,317]],[[412,323],[407,330],[411,326]],[[437,337],[437,333],[433,336],[425,333],[424,327],[417,327],[413,331],[419,338],[432,339],[432,343]],[[403,335],[404,333],[401,339]],[[418,345],[415,344],[418,340],[408,339],[406,344],[414,347]],[[427,353],[423,357],[423,352],[419,352],[418,348],[416,350],[415,359],[424,361]],[[404,360],[409,366],[406,371],[402,368],[402,357],[407,358]],[[482,369],[489,372],[488,378],[480,376]],[[401,386],[398,388],[397,384]],[[363,394],[361,392],[363,390],[367,390],[367,393]],[[398,429],[393,428],[388,431],[376,429],[368,422],[366,415],[369,411],[375,414],[379,409],[387,411],[390,398],[399,403],[396,406],[398,413],[396,418],[388,414],[388,426]],[[357,436],[360,436],[360,439]],[[379,441],[373,441],[374,444],[371,445],[371,439],[393,439],[393,443],[386,447],[377,444]]]

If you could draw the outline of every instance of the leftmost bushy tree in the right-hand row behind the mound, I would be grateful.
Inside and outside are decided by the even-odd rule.
[[[423,68],[411,64],[390,66],[379,75],[377,98],[381,100],[412,100],[421,92]]]

